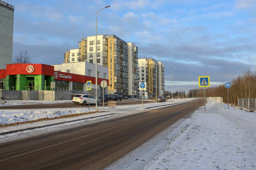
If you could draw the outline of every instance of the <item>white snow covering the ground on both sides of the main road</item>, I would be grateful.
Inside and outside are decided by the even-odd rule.
[[[183,99],[164,103],[144,104],[144,109],[152,106],[190,101]],[[60,101],[56,101],[60,102]],[[63,101],[62,101],[63,102]],[[70,102],[70,101],[64,101]],[[15,104],[15,103],[13,103]],[[91,108],[90,111],[94,111]],[[98,108],[103,110],[102,107]],[[128,111],[127,111],[128,110]],[[111,119],[116,116],[135,114],[142,105],[105,107],[105,111],[91,115],[54,119],[29,124],[0,128],[0,132],[56,124],[50,127],[0,135],[0,142],[89,124],[92,121]],[[87,112],[88,109],[39,109],[39,110],[0,110],[1,124],[16,121],[55,117],[59,115]],[[15,117],[16,116],[16,117]],[[23,118],[23,119],[22,119]],[[70,122],[70,121],[74,122]],[[204,107],[184,117],[154,138],[128,153],[106,170],[255,170],[256,169],[256,114],[246,112],[209,100]]]

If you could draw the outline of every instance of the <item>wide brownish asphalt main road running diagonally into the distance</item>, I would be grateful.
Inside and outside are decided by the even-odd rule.
[[[0,144],[3,170],[101,170],[204,105],[197,99]]]

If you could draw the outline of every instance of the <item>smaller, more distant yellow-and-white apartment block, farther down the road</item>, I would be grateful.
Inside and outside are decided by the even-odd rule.
[[[162,96],[164,92],[164,64],[162,62],[156,62],[156,60],[151,57],[138,59],[138,64],[139,83],[147,83],[146,92],[148,92],[148,95],[152,96],[156,94],[157,85],[157,95]],[[155,69],[156,67],[157,70]],[[140,96],[141,95],[142,92],[140,91]]]

